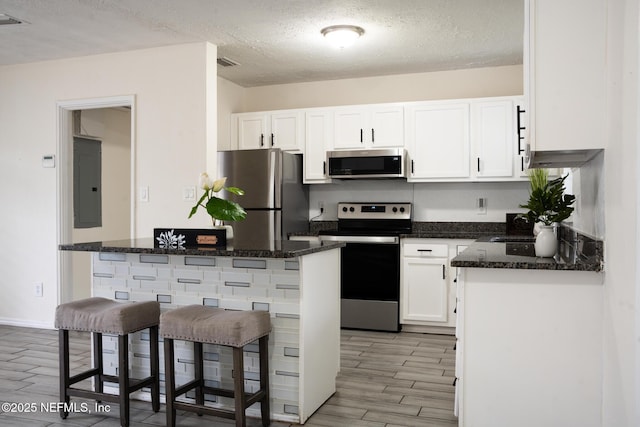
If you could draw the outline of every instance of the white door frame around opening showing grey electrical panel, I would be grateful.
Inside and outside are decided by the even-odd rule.
[[[112,96],[104,98],[87,98],[58,101],[57,123],[57,174],[56,174],[56,212],[57,212],[57,244],[71,242],[73,231],[73,112],[96,108],[128,107],[131,109],[131,212],[129,229],[131,238],[135,236],[135,164],[136,164],[136,98],[135,95]],[[71,289],[71,256],[69,252],[58,251],[58,304],[68,302]]]

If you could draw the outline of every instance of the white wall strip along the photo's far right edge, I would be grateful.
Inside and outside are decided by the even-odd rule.
[[[640,425],[638,0],[609,1],[603,426]]]

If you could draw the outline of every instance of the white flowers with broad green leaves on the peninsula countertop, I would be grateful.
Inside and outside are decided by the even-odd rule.
[[[199,185],[204,193],[191,208],[189,218],[198,211],[199,207],[203,207],[209,216],[214,227],[225,228],[227,230],[227,240],[233,238],[233,229],[230,225],[224,225],[223,221],[242,221],[247,217],[247,212],[238,203],[231,200],[225,200],[216,196],[216,193],[226,190],[229,193],[242,196],[244,190],[238,187],[225,187],[226,177],[212,180],[206,172],[200,174]]]

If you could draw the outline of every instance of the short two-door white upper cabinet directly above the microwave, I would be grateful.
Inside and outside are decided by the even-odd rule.
[[[362,105],[334,109],[334,149],[404,146],[401,105]]]

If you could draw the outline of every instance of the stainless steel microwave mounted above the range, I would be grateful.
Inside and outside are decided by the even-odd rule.
[[[403,148],[328,151],[331,178],[406,178]]]

